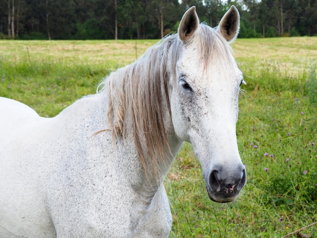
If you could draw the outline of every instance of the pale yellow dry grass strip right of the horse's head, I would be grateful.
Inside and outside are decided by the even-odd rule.
[[[232,48],[243,69],[271,65],[292,76],[317,63],[317,37],[237,39]]]

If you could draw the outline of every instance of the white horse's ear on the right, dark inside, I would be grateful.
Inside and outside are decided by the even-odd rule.
[[[233,42],[239,33],[239,28],[240,14],[234,6],[231,6],[231,8],[221,18],[217,31],[226,39],[227,42]]]

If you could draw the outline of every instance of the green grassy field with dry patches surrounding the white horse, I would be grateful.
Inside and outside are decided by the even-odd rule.
[[[155,42],[0,41],[0,96],[54,116]],[[171,237],[282,237],[317,221],[317,37],[232,47],[248,83],[237,123],[247,184],[235,202],[211,202],[185,143],[165,182]],[[317,224],[293,237],[317,237]]]

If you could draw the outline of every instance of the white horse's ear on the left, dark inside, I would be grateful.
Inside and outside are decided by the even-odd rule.
[[[179,38],[185,42],[195,33],[199,26],[199,19],[196,13],[195,6],[188,9],[182,20],[179,23],[178,27],[178,36]]]

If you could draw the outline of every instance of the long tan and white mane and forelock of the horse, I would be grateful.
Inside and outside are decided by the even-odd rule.
[[[230,46],[211,27],[200,24],[198,45],[204,68],[210,60],[219,59],[219,54],[230,53]],[[125,138],[132,130],[134,143],[147,177],[152,169],[157,175],[159,163],[167,164],[172,157],[164,126],[166,107],[171,119],[168,84],[170,77],[176,80],[176,63],[181,41],[177,34],[163,38],[132,64],[110,73],[100,84],[99,93],[108,93],[108,121],[113,141]],[[229,57],[228,57],[229,58]],[[173,75],[170,75],[170,73]],[[99,88],[99,87],[98,87]],[[169,151],[168,153],[166,151]],[[146,161],[146,156],[150,161]]]

